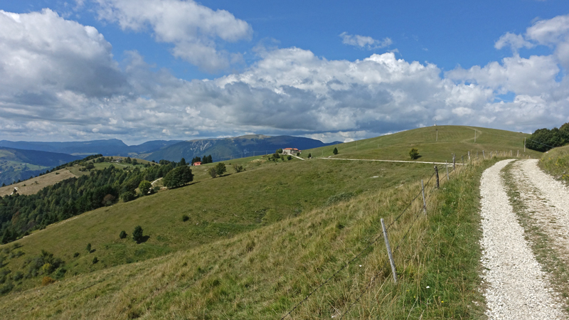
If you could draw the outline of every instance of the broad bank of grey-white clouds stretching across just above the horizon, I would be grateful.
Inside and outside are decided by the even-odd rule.
[[[133,30],[149,23],[137,21]],[[565,41],[553,31],[539,34],[558,39],[555,50]],[[257,52],[257,62],[241,73],[186,81],[154,70],[136,51],[119,68],[95,28],[52,11],[2,11],[0,134],[142,142],[256,132],[351,141],[434,119],[523,131],[569,121],[569,80],[559,80],[566,70],[556,53],[514,54],[443,74],[394,53],[349,61],[302,48]],[[506,92],[514,92],[511,102],[497,101]]]

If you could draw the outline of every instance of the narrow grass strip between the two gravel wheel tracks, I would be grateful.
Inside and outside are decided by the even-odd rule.
[[[514,162],[511,162],[501,172],[510,204],[519,218],[525,238],[531,245],[533,254],[543,267],[543,270],[551,276],[551,285],[555,288],[555,292],[558,292],[563,297],[562,302],[565,311],[569,311],[567,302],[569,297],[569,268],[557,250],[555,250],[555,239],[551,238],[546,230],[543,229],[541,223],[538,223],[536,218],[531,216],[534,213],[533,209],[528,207],[521,199],[521,191],[511,173],[513,166]]]

